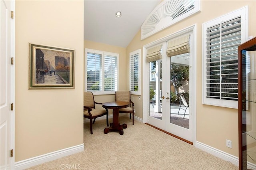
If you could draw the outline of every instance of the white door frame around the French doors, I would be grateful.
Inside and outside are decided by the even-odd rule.
[[[183,30],[180,30],[178,32],[175,32],[173,34],[170,34],[164,38],[161,38],[159,40],[156,40],[154,42],[148,43],[146,45],[143,45],[143,57],[142,57],[142,64],[143,64],[143,82],[149,82],[149,64],[146,62],[146,51],[148,47],[160,44],[164,41],[168,41],[172,38],[175,38],[177,36],[181,36],[182,34],[186,34],[187,32],[193,32],[194,33],[194,40],[192,43],[194,43],[194,49],[191,51],[193,53],[194,56],[194,60],[192,61],[191,65],[192,67],[194,67],[194,69],[192,69],[192,74],[193,74],[193,79],[190,80],[192,87],[191,87],[191,91],[193,91],[193,95],[191,96],[191,103],[190,105],[192,106],[190,109],[191,112],[191,116],[193,116],[193,120],[192,120],[192,129],[193,129],[193,144],[195,144],[196,141],[196,24],[189,26],[187,28],[184,28]],[[144,85],[143,86],[143,123],[147,123],[148,121],[148,116],[149,116],[149,85]],[[163,129],[164,130],[164,129]]]

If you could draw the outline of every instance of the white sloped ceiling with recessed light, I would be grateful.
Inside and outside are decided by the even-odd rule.
[[[85,0],[84,40],[127,47],[161,0]],[[116,12],[122,12],[120,18]]]

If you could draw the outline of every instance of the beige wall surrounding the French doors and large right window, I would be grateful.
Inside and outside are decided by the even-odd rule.
[[[140,40],[140,32],[138,32],[126,48],[126,62],[128,63],[130,52],[139,48],[142,49],[143,45],[196,24],[196,140],[234,156],[238,156],[238,110],[202,105],[202,24],[247,5],[249,6],[248,36],[256,36],[255,1],[203,0],[201,2],[201,12],[142,41]],[[142,88],[144,86],[143,83],[144,82],[142,82]],[[143,99],[143,97],[141,97],[141,99]],[[136,109],[136,116],[139,116],[140,118],[142,118],[142,101],[143,100],[136,101],[136,105],[139,107]],[[232,140],[232,148],[226,147],[226,139]]]

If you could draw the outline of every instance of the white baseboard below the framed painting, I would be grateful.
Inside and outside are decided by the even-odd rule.
[[[43,154],[40,156],[36,156],[34,158],[29,158],[26,160],[21,160],[19,162],[15,162],[15,170],[24,170],[26,168],[30,168],[32,166],[36,166],[42,164],[44,162],[49,162],[52,160],[56,160],[58,158],[68,156],[71,154],[75,154],[78,152],[84,151],[84,144],[80,144],[77,146],[72,146],[70,148],[65,148],[61,150],[57,150],[55,152],[50,152],[48,154]]]

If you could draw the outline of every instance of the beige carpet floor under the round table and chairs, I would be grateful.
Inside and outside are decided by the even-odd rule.
[[[112,122],[112,119],[109,119]],[[96,119],[93,134],[84,123],[84,151],[33,166],[28,170],[238,170],[238,166],[208,154],[126,116],[124,134],[104,134],[105,120]],[[66,167],[65,167],[66,166]]]

